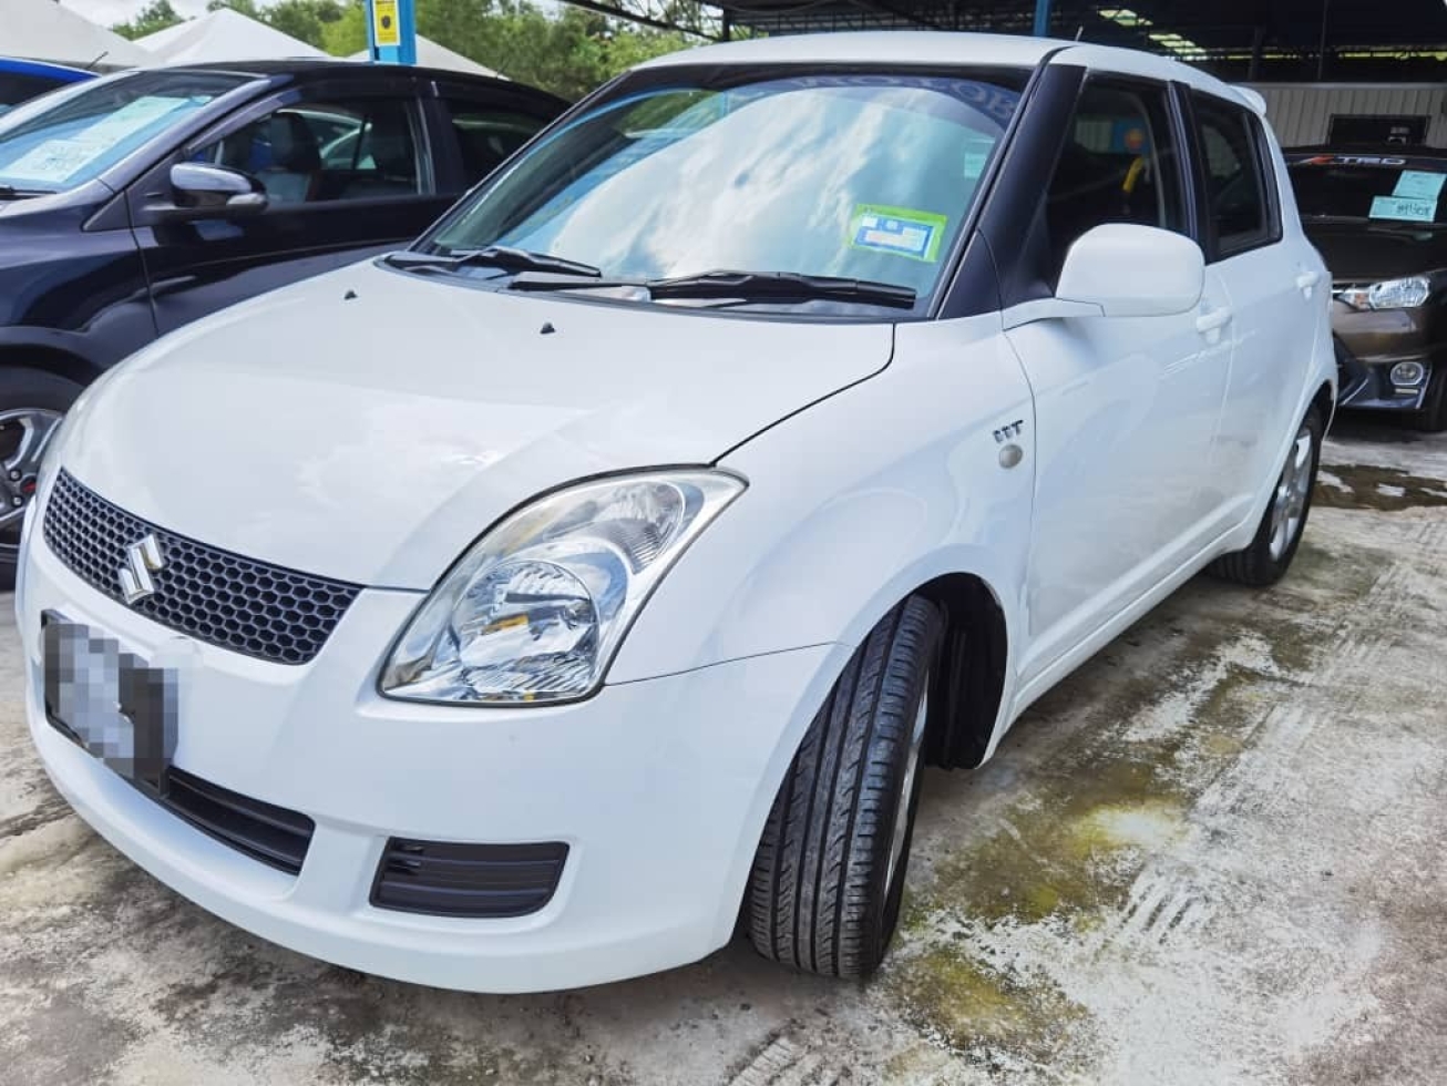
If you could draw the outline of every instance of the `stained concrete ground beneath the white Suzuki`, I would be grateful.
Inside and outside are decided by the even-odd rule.
[[[1447,1080],[1447,439],[1343,427],[1291,576],[1200,579],[926,780],[901,937],[457,995],[279,950],[68,812],[0,634],[0,1082]],[[10,624],[9,605],[0,621]]]

